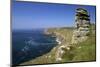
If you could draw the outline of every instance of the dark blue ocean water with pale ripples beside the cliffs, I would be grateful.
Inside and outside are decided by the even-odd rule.
[[[43,29],[12,31],[12,64],[18,65],[48,53],[57,45],[56,38]]]

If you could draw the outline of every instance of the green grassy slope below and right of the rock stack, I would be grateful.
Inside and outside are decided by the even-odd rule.
[[[70,51],[63,55],[64,62],[94,61],[96,60],[95,25],[91,25],[88,39],[84,42],[73,44]]]

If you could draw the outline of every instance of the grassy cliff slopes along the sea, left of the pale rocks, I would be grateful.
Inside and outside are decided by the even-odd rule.
[[[32,59],[30,61],[24,62],[21,65],[27,65],[27,64],[45,64],[45,63],[58,63],[55,61],[55,54],[57,52],[57,49],[61,46],[61,45],[67,45],[67,43],[71,42],[71,37],[73,34],[73,28],[49,28],[47,30],[48,33],[52,33],[52,32],[56,32],[56,34],[59,34],[59,36],[61,35],[62,37],[64,37],[65,39],[63,40],[63,43],[60,45],[57,45],[56,47],[54,47],[50,52],[48,52],[47,54],[44,54],[40,57],[37,57],[36,59]],[[66,41],[67,40],[67,41]]]

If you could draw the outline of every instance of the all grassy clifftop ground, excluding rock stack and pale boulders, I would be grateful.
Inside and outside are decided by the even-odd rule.
[[[44,54],[36,59],[24,62],[21,65],[27,64],[47,64],[47,63],[63,63],[73,61],[95,61],[96,60],[96,42],[95,42],[95,26],[91,25],[91,32],[86,41],[78,44],[71,44],[73,28],[50,28],[47,32],[55,33],[56,36],[61,39],[62,43],[54,47],[50,52]],[[58,48],[60,46],[70,45],[70,50],[63,48],[64,53],[62,54],[62,60],[56,61],[55,59]]]

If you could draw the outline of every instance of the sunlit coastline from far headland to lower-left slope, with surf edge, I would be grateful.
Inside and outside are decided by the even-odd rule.
[[[44,35],[56,37],[56,42],[58,42],[57,46],[53,47],[50,52],[44,54],[36,59],[32,59],[30,61],[24,62],[20,65],[27,65],[27,64],[46,64],[46,63],[59,63],[56,61],[56,54],[58,53],[58,49],[61,46],[67,47],[71,42],[73,29],[67,28],[48,28],[44,31]],[[63,36],[62,36],[63,35]],[[66,38],[68,37],[68,38]],[[62,52],[62,51],[61,51]],[[45,61],[42,61],[46,59]],[[62,61],[64,62],[64,61]]]

